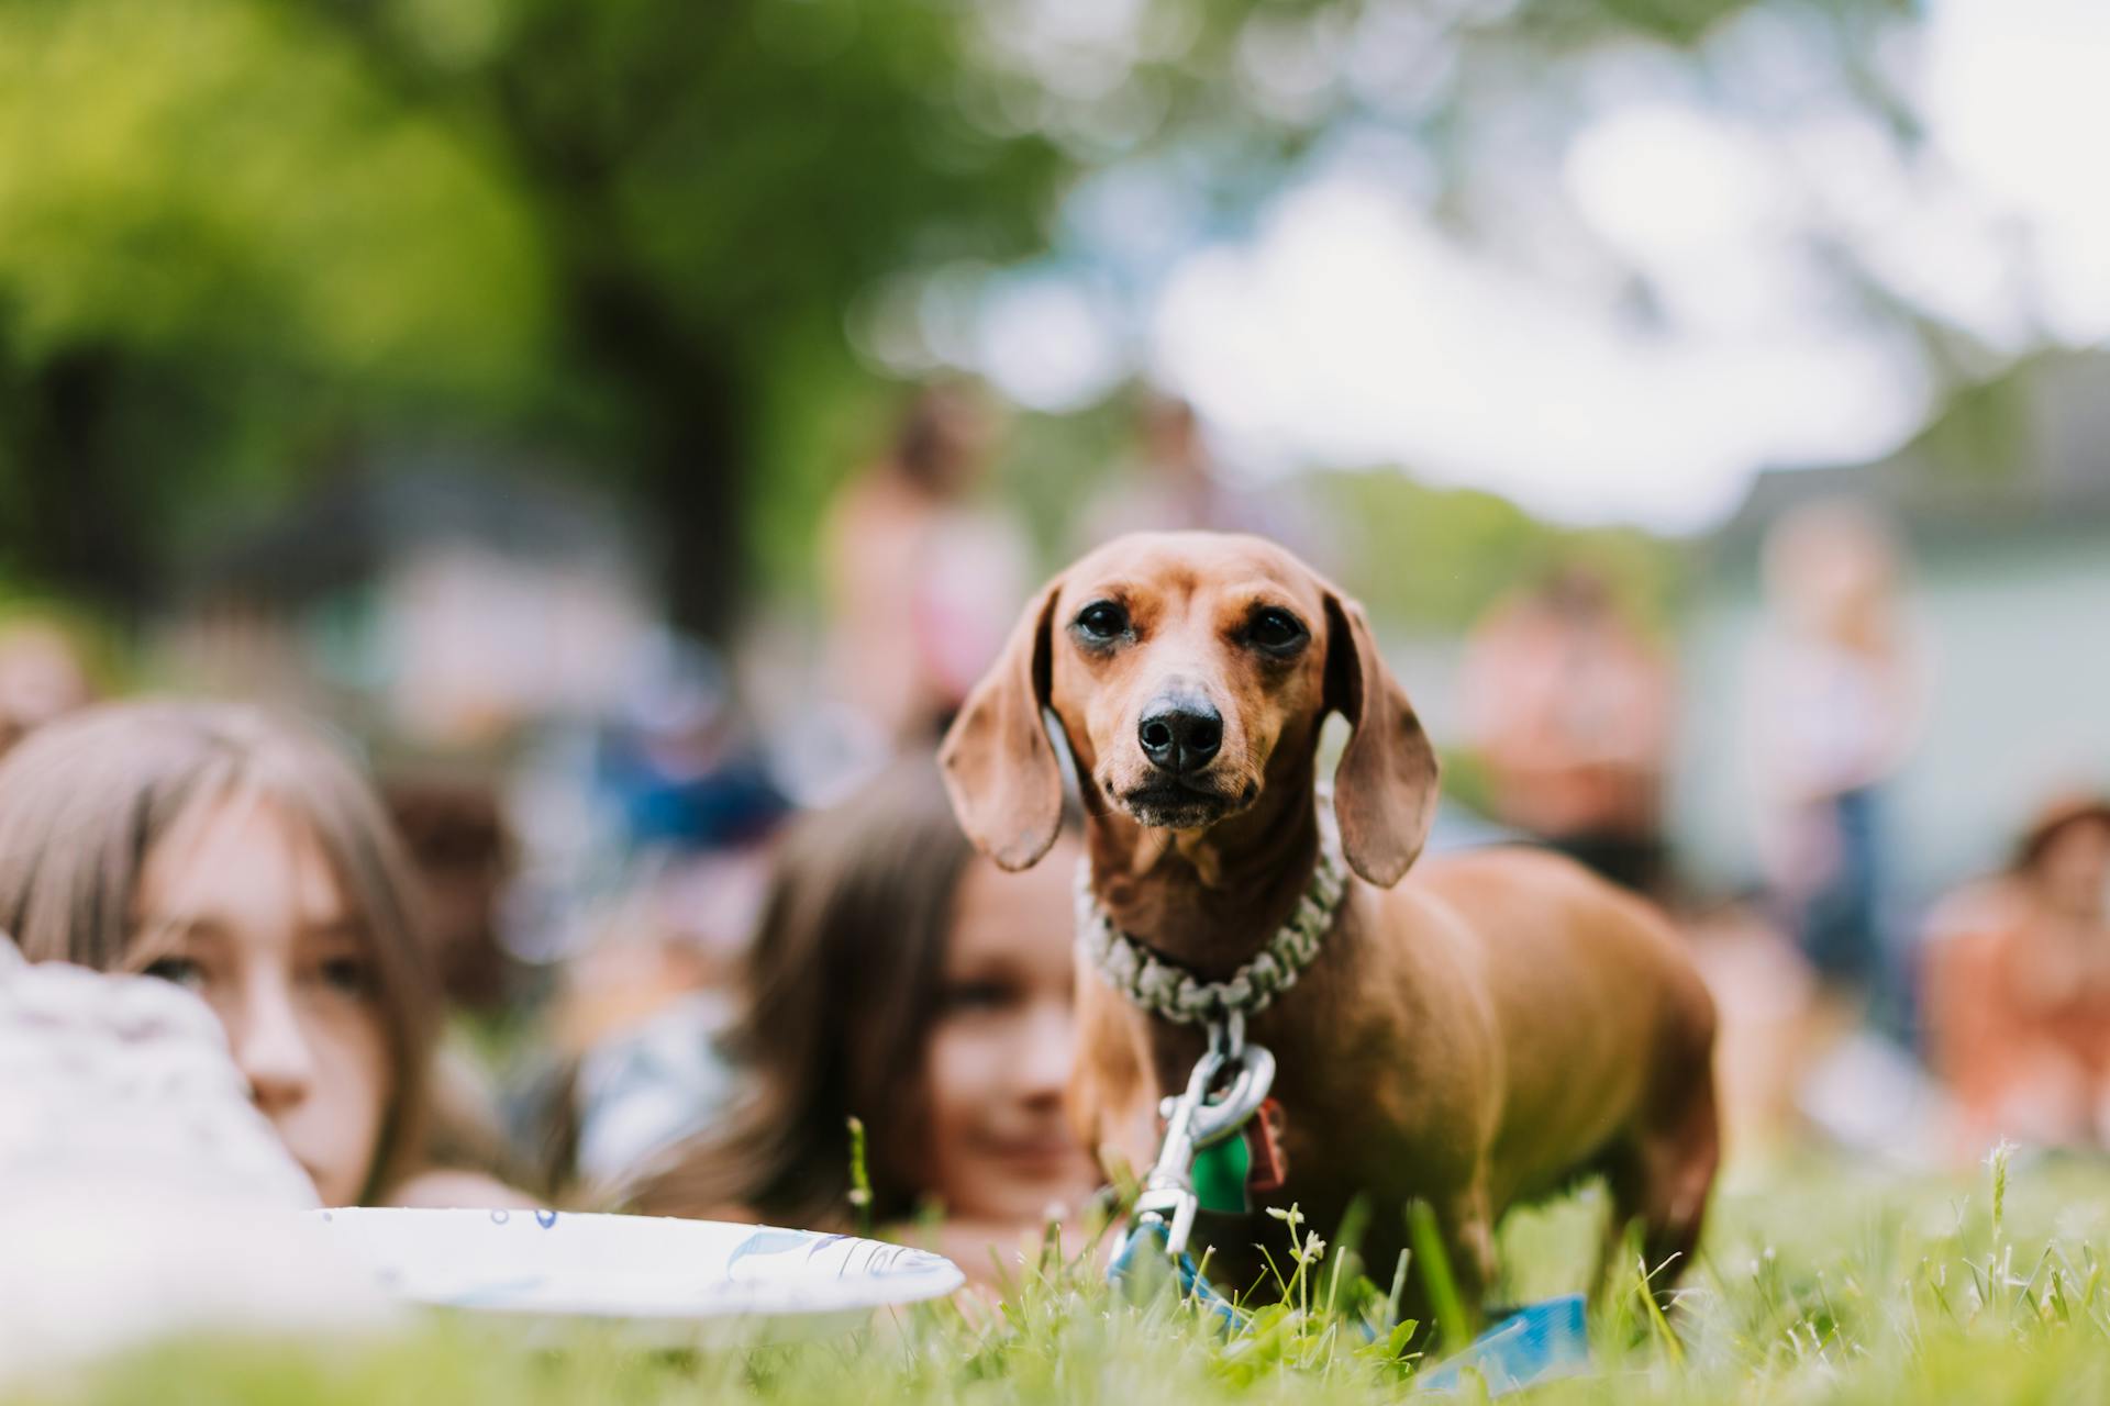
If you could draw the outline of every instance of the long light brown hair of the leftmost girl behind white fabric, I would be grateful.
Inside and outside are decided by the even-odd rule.
[[[0,932],[30,961],[137,970],[148,854],[194,805],[234,797],[314,833],[367,934],[392,1073],[371,1197],[420,1151],[437,1005],[401,843],[338,748],[213,702],[103,704],[38,727],[0,761]]]

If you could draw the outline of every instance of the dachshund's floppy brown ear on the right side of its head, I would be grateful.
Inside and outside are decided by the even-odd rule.
[[[1378,658],[1363,607],[1325,592],[1325,702],[1355,727],[1334,769],[1334,816],[1348,866],[1390,887],[1428,841],[1437,753],[1414,704]]]

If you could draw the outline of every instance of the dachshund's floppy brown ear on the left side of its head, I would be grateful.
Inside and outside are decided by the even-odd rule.
[[[1032,868],[1061,828],[1061,763],[1049,702],[1049,616],[1061,578],[1028,603],[1004,651],[966,696],[937,748],[960,828],[1000,868]]]

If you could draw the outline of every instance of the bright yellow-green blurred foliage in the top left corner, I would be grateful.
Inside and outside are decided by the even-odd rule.
[[[528,211],[295,13],[245,0],[0,8],[8,344],[276,363],[479,396],[534,367]]]

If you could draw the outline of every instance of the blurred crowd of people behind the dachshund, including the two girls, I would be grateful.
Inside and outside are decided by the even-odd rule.
[[[110,974],[38,995],[0,951],[11,1096],[87,1079],[116,1107],[93,1079],[131,1065],[40,1065],[34,1035],[150,980],[217,1016],[325,1206],[869,1227],[971,1273],[1074,1221],[1104,1180],[1061,1107],[1078,847],[1000,873],[933,765],[1044,561],[987,491],[998,434],[971,388],[926,388],[846,474],[819,548],[825,639],[783,717],[745,698],[738,660],[660,641],[620,706],[435,761],[270,700],[97,698],[76,634],[6,624],[0,930],[27,963]],[[1061,554],[1203,527],[1334,569],[1287,495],[1236,491],[1165,396],[1076,521]],[[2004,868],[1901,911],[1891,782],[1941,687],[1912,594],[1865,506],[1772,529],[1745,755],[1722,759],[1762,780],[1766,881],[1707,894],[1667,824],[1675,634],[1589,561],[1547,563],[1464,641],[1452,742],[1485,824],[1450,843],[1551,845],[1680,917],[1749,1155],[1810,1130],[1929,1159],[2000,1136],[2102,1147],[2110,799],[2047,795]],[[13,1132],[57,1126],[8,1107]],[[0,1178],[46,1153],[11,1136]]]

